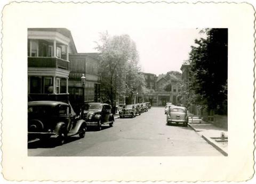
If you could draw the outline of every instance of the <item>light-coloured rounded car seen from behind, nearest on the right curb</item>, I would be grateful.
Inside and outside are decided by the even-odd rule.
[[[166,115],[166,122],[167,124],[182,123],[183,126],[188,126],[187,108],[180,106],[169,107],[169,110],[167,111]]]

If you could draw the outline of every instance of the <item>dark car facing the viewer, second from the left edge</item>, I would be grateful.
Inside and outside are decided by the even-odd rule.
[[[111,106],[107,103],[85,103],[81,116],[87,127],[94,126],[101,130],[101,125],[109,124],[113,126],[115,121],[111,113]]]

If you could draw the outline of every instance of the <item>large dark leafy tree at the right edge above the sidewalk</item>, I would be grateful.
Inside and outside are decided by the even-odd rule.
[[[218,114],[227,113],[228,30],[205,29],[207,38],[191,46],[191,86],[197,98]]]

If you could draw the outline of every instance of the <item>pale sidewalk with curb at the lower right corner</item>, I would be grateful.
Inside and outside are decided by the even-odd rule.
[[[189,126],[220,153],[228,156],[228,130],[211,123],[189,123]]]

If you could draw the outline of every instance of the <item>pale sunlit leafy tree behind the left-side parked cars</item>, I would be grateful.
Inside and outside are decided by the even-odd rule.
[[[139,55],[129,35],[100,35],[96,49],[100,52],[101,97],[114,105],[116,94],[130,97],[143,91],[145,78],[140,74]]]

